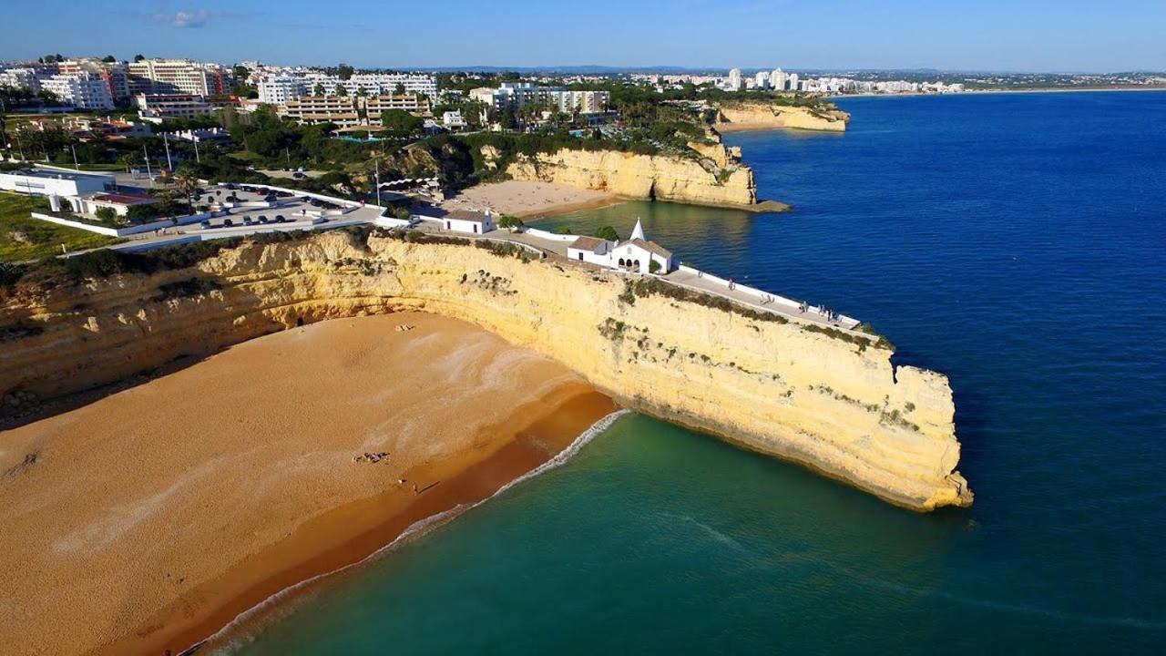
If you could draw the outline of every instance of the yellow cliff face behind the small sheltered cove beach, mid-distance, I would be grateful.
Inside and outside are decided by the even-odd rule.
[[[638,198],[708,205],[756,204],[753,170],[730,161],[723,151],[724,146],[719,146],[717,154],[724,163],[718,165],[708,156],[563,148],[553,154],[524,156],[510,165],[506,173],[515,180],[541,180]]]

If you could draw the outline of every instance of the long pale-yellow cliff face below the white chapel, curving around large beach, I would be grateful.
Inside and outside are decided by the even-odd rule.
[[[398,309],[477,323],[633,409],[894,503],[971,502],[947,378],[894,369],[865,339],[632,293],[569,261],[387,236],[251,243],[184,270],[17,295],[0,315],[0,391],[59,395],[298,322]]]

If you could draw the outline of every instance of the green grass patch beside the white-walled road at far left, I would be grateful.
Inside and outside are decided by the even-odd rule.
[[[29,216],[33,210],[48,209],[49,203],[44,198],[0,191],[0,261],[14,263],[61,254],[61,244],[69,251],[76,251],[120,242],[114,237],[56,225]]]

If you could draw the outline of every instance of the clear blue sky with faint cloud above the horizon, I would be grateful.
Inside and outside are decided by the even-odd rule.
[[[0,60],[1166,70],[1166,0],[0,0]]]

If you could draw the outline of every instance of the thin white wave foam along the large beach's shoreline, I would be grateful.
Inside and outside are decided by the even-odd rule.
[[[343,567],[332,570],[330,572],[324,572],[322,574],[316,574],[315,577],[311,577],[309,579],[304,579],[304,580],[297,582],[297,584],[295,584],[295,585],[290,585],[290,586],[281,589],[280,592],[276,592],[275,594],[273,594],[273,595],[268,596],[267,599],[260,601],[255,606],[252,606],[251,608],[244,610],[243,613],[239,613],[225,627],[223,627],[222,629],[215,631],[215,634],[212,634],[212,635],[210,635],[210,636],[208,636],[208,637],[198,641],[197,643],[188,647],[185,650],[181,651],[178,654],[178,656],[187,656],[189,654],[195,654],[196,651],[201,650],[203,647],[206,647],[206,645],[211,645],[211,649],[212,649],[211,654],[216,654],[216,655],[217,654],[233,654],[234,651],[238,651],[240,648],[243,648],[244,645],[246,645],[247,643],[250,643],[252,640],[254,640],[254,637],[258,635],[259,631],[258,630],[257,631],[248,631],[248,634],[246,634],[246,635],[236,635],[236,636],[232,636],[231,634],[233,631],[243,628],[244,626],[246,626],[248,621],[251,621],[253,619],[257,619],[261,613],[269,613],[269,615],[267,616],[267,622],[265,622],[265,624],[268,624],[268,623],[273,622],[274,620],[278,620],[278,619],[280,619],[282,616],[286,616],[287,613],[271,614],[272,613],[272,608],[275,607],[275,605],[279,603],[280,601],[282,601],[285,599],[288,599],[294,593],[296,593],[296,592],[298,592],[298,591],[301,591],[301,589],[310,586],[311,584],[314,584],[316,581],[319,581],[319,580],[322,580],[324,578],[328,578],[328,577],[331,577],[331,575],[335,575],[335,574],[339,574],[342,572],[345,572],[347,570],[352,570],[354,567],[359,567],[359,566],[361,566],[361,565],[364,565],[366,563],[370,563],[370,561],[372,561],[372,560],[374,560],[374,559],[377,559],[377,558],[379,558],[379,557],[381,557],[381,556],[384,556],[386,553],[389,553],[391,551],[395,550],[396,547],[401,546],[402,544],[407,543],[408,540],[417,538],[417,537],[421,537],[421,536],[428,533],[429,531],[431,531],[433,529],[435,529],[437,526],[441,526],[441,525],[444,525],[450,519],[454,519],[455,517],[458,517],[463,512],[465,512],[468,510],[472,510],[472,509],[482,505],[483,503],[490,501],[491,498],[494,498],[498,495],[504,494],[506,490],[513,488],[514,486],[517,486],[517,484],[519,484],[519,483],[521,483],[524,481],[528,481],[528,480],[531,480],[531,479],[533,479],[533,477],[535,477],[535,476],[538,476],[538,475],[540,475],[540,474],[542,474],[545,472],[549,472],[550,469],[555,469],[556,467],[561,467],[564,462],[567,462],[568,460],[570,460],[571,458],[574,458],[575,454],[577,454],[580,451],[582,451],[583,447],[586,446],[588,442],[590,442],[591,440],[593,440],[596,438],[596,435],[598,435],[599,433],[603,433],[609,427],[611,427],[611,425],[616,421],[616,419],[619,419],[620,417],[623,417],[624,414],[627,414],[630,412],[631,412],[630,410],[617,410],[616,412],[612,412],[611,414],[607,414],[606,417],[603,417],[602,419],[599,419],[598,421],[596,421],[595,424],[592,424],[586,431],[583,431],[583,433],[580,434],[580,437],[575,438],[575,441],[573,441],[570,445],[568,445],[567,448],[564,448],[563,451],[556,453],[554,458],[552,458],[550,460],[548,460],[548,461],[543,462],[542,465],[535,467],[534,469],[527,472],[526,474],[522,474],[521,476],[519,476],[518,479],[514,479],[513,481],[506,483],[505,486],[498,488],[498,491],[496,491],[494,494],[487,496],[486,498],[484,498],[484,500],[482,500],[482,501],[479,501],[477,503],[472,503],[470,505],[465,505],[465,504],[461,504],[459,503],[459,504],[455,505],[454,508],[450,508],[449,510],[445,510],[445,511],[438,512],[436,515],[431,515],[429,517],[426,517],[424,519],[420,519],[417,522],[414,522],[413,524],[409,524],[409,526],[406,528],[403,531],[401,531],[401,535],[396,536],[396,538],[393,539],[391,543],[388,543],[385,546],[378,549],[377,551],[370,553],[365,558],[363,558],[360,560],[357,560],[356,563],[351,563],[349,565],[345,565]],[[303,598],[303,599],[307,599],[307,598]],[[293,608],[294,607],[287,608],[287,612],[290,612]],[[219,641],[222,641],[220,644],[215,644],[216,642],[219,642]]]

